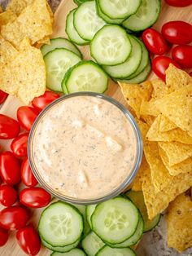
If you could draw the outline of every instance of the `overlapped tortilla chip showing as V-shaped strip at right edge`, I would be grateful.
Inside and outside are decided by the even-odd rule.
[[[184,161],[181,161],[181,163],[178,163],[177,165],[169,166],[168,165],[168,156],[162,148],[159,148],[159,154],[160,154],[162,161],[164,162],[164,166],[166,166],[169,174],[171,174],[171,175],[175,176],[178,174],[190,172],[192,170],[192,157],[189,157],[189,158],[185,159]]]

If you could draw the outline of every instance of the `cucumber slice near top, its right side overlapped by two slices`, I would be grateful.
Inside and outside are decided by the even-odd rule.
[[[76,9],[73,24],[81,38],[84,40],[92,40],[95,33],[106,23],[98,16],[95,2],[90,1],[82,3],[81,6]]]

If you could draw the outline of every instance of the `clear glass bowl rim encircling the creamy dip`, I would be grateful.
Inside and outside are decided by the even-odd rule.
[[[95,199],[77,199],[77,198],[72,198],[68,196],[64,196],[59,192],[56,192],[54,189],[50,188],[46,182],[41,178],[41,176],[38,174],[38,171],[36,170],[34,164],[33,164],[33,157],[32,157],[32,150],[31,150],[31,145],[33,141],[33,133],[38,125],[38,122],[41,120],[41,117],[43,117],[46,112],[55,106],[55,104],[58,104],[60,101],[63,101],[65,99],[69,99],[72,97],[78,97],[78,96],[92,96],[100,99],[107,100],[109,103],[114,104],[117,108],[119,108],[125,115],[125,117],[128,118],[130,124],[133,126],[133,130],[136,135],[137,139],[137,156],[136,156],[136,161],[135,165],[133,166],[133,170],[131,170],[130,174],[128,177],[124,180],[123,183],[120,184],[118,188],[116,188],[114,191],[111,193],[101,196]],[[133,116],[131,113],[129,113],[129,110],[125,108],[120,102],[118,102],[116,99],[111,98],[108,95],[103,95],[103,94],[98,94],[95,92],[76,92],[72,93],[70,95],[63,95],[59,99],[55,99],[52,103],[50,103],[45,109],[41,111],[41,113],[38,115],[37,119],[33,123],[33,127],[30,130],[29,136],[28,136],[28,162],[29,165],[33,171],[34,176],[36,177],[38,183],[42,186],[42,188],[45,188],[47,192],[49,192],[52,196],[57,197],[61,201],[67,201],[69,203],[74,203],[74,204],[79,204],[79,205],[94,205],[98,204],[99,202],[102,201],[107,201],[112,197],[118,196],[121,192],[126,189],[130,183],[133,182],[133,179],[135,178],[137,174],[137,170],[139,169],[139,166],[141,166],[142,163],[142,150],[143,150],[143,143],[142,143],[142,135],[141,131],[139,130],[139,127],[137,126],[137,122],[134,120]]]

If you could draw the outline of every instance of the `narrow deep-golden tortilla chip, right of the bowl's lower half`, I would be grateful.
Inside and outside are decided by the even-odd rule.
[[[151,182],[155,187],[155,191],[166,188],[172,182],[173,176],[169,174],[168,169],[159,155],[158,143],[146,141],[144,142],[144,154],[151,170]]]

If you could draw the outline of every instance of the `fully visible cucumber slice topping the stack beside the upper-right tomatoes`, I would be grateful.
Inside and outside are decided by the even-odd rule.
[[[90,43],[90,53],[98,64],[117,65],[128,59],[132,50],[128,34],[116,24],[105,25]]]

